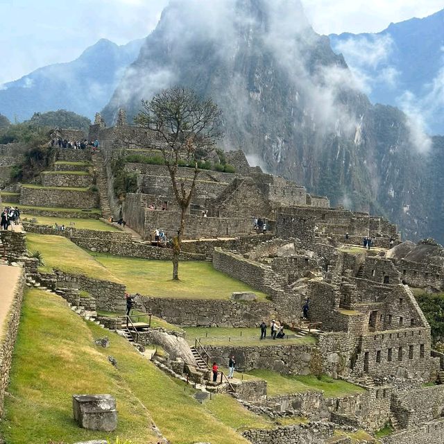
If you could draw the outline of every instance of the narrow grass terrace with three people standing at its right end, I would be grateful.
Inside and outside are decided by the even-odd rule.
[[[285,330],[289,339],[267,339],[259,341],[261,332],[259,328],[205,328],[205,327],[184,327],[186,339],[190,345],[194,345],[196,338],[202,344],[208,345],[237,345],[237,346],[257,346],[257,345],[287,345],[287,344],[316,344],[314,336],[294,337],[293,332]],[[268,328],[268,334],[269,334]],[[291,337],[293,335],[293,337]]]

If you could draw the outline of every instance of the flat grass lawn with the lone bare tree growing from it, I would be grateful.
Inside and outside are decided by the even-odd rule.
[[[156,298],[229,299],[233,291],[254,291],[259,300],[266,295],[244,282],[214,270],[209,262],[180,262],[180,281],[171,280],[170,261],[133,259],[111,255],[94,257],[126,284],[130,293]]]

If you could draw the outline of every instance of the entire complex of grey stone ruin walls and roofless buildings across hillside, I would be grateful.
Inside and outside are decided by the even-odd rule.
[[[62,132],[58,130],[58,134]],[[99,140],[99,153],[91,156],[87,151],[59,150],[58,162],[89,161],[93,171],[76,178],[43,174],[40,187],[10,188],[6,191],[8,200],[13,197],[19,205],[35,207],[51,203],[51,207],[76,207],[87,212],[100,209],[105,219],[117,219],[122,214],[141,241],[122,232],[93,236],[82,230],[74,230],[70,239],[94,251],[151,259],[169,257],[151,245],[156,228],[173,234],[180,220],[166,167],[126,162],[126,170],[137,175],[137,192],[127,194],[123,202],[114,196],[111,168],[112,159],[119,156],[155,156],[162,142],[146,130],[128,125],[124,112],[119,112],[117,125],[112,128],[107,128],[97,114],[87,138]],[[1,146],[0,150],[0,159],[13,164],[10,153],[14,147]],[[338,427],[362,427],[369,432],[391,422],[395,432],[383,438],[386,444],[442,443],[444,355],[432,350],[430,326],[409,288],[409,284],[443,288],[442,260],[424,260],[426,256],[443,257],[442,248],[401,243],[398,228],[383,217],[332,208],[327,197],[313,196],[302,185],[250,167],[242,151],[228,151],[225,159],[235,166],[234,173],[205,170],[198,176],[182,258],[210,259],[216,270],[263,291],[268,300],[175,300],[135,295],[139,307],[182,326],[257,327],[276,318],[292,330],[306,332],[301,310],[308,299],[316,343],[262,348],[211,345],[207,352],[225,366],[234,354],[239,369],[245,371],[263,368],[295,375],[325,373],[365,388],[365,394],[334,402],[320,393],[271,398],[260,384],[246,383],[237,388],[240,402],[255,412],[278,406],[282,415],[324,418]],[[66,165],[56,163],[54,169]],[[179,169],[185,182],[189,174],[189,169]],[[69,190],[63,191],[64,187]],[[72,191],[73,187],[85,191]],[[157,210],[150,210],[152,203]],[[168,210],[160,210],[165,204]],[[203,211],[207,217],[202,217]],[[266,221],[266,234],[253,231],[257,217]],[[32,225],[26,229],[53,234]],[[348,248],[348,244],[361,245],[363,237],[375,237],[382,250],[357,252]],[[1,241],[15,248],[12,234],[2,233]],[[386,254],[391,241],[396,246]],[[19,244],[19,256],[26,256],[22,237]],[[61,272],[51,277],[41,275],[32,261],[25,265],[33,279],[47,285],[66,286],[71,281]],[[123,285],[85,279],[78,282],[79,289],[90,291],[91,308],[121,308]],[[161,341],[167,347],[176,341],[168,332],[161,333],[163,336],[147,332],[141,343]],[[171,362],[165,365],[176,373],[185,371],[183,362],[176,359],[180,353],[173,348],[170,351]],[[190,350],[185,353],[187,359],[194,359]],[[193,376],[202,379],[200,374]],[[345,438],[335,441],[332,429],[318,427],[318,435],[310,437],[303,427],[247,431],[244,436],[253,443],[351,442]]]

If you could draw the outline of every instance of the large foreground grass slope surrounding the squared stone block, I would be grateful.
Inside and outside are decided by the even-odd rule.
[[[42,322],[44,320],[44,322]],[[228,395],[199,404],[189,386],[173,380],[118,335],[110,348],[94,339],[103,330],[86,323],[57,296],[31,290],[12,363],[10,396],[0,434],[8,444],[73,443],[119,436],[153,444],[152,422],[174,444],[246,444],[236,430],[271,427]],[[108,362],[117,359],[117,368]],[[119,425],[110,434],[80,429],[72,419],[73,393],[110,393],[117,398]]]

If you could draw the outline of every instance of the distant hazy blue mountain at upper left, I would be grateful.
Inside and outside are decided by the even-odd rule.
[[[0,85],[0,113],[10,121],[23,121],[34,112],[62,108],[92,118],[108,103],[142,43],[135,40],[118,46],[102,39],[72,62],[42,67]]]

